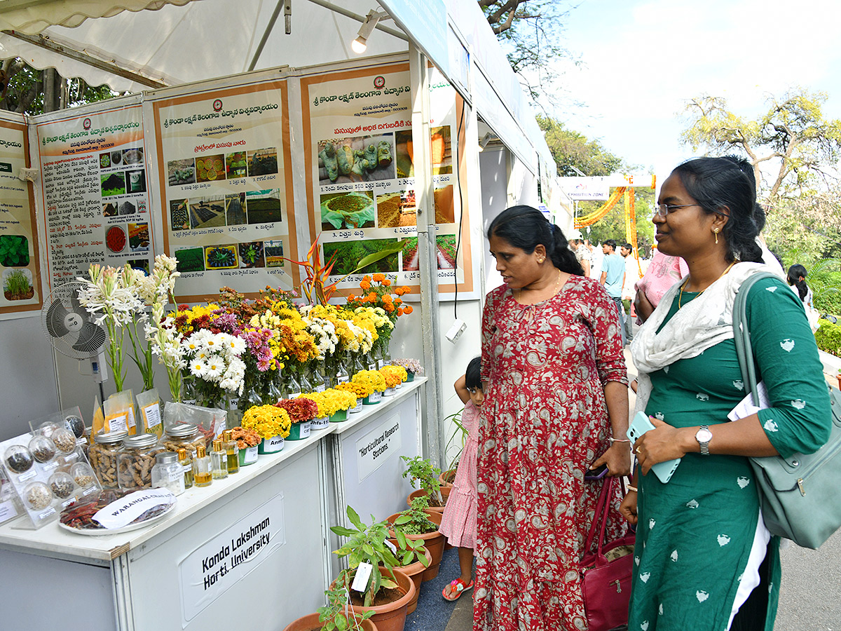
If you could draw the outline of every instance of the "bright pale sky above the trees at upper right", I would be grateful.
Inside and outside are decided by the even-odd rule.
[[[838,0],[572,0],[563,45],[579,56],[560,81],[583,108],[555,112],[659,183],[694,153],[680,143],[685,103],[709,94],[757,117],[770,94],[827,93],[841,118]]]

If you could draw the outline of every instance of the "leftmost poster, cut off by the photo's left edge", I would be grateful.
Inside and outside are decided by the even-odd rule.
[[[32,185],[19,179],[28,156],[23,117],[0,118],[0,318],[39,310],[43,300]]]

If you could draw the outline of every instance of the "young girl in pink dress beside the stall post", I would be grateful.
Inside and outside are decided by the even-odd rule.
[[[443,597],[458,600],[463,591],[473,589],[473,546],[476,539],[476,453],[479,408],[484,402],[482,392],[481,358],[468,363],[465,374],[455,383],[456,394],[464,403],[462,425],[468,430],[462,456],[458,460],[456,480],[453,482],[447,507],[438,528],[449,543],[458,547],[458,565],[462,575],[444,587]]]

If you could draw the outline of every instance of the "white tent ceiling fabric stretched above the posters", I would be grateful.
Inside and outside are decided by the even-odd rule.
[[[196,82],[246,72],[262,34],[277,6],[276,0],[175,0],[166,6],[159,0],[155,11],[121,11],[112,17],[87,19],[75,28],[50,26],[40,31],[51,44],[77,50],[99,61],[149,77],[166,85]],[[131,4],[133,0],[121,0]],[[141,4],[141,2],[134,2]],[[106,5],[114,0],[85,3]],[[149,4],[146,0],[145,4]],[[375,0],[339,0],[341,8],[364,15],[378,8]],[[116,10],[116,7],[113,7]],[[38,12],[40,8],[34,7]],[[110,15],[107,11],[103,14]],[[78,13],[76,13],[78,15]],[[58,15],[60,18],[61,16]],[[7,14],[0,18],[8,21]],[[42,19],[46,19],[44,15]],[[255,70],[273,66],[313,66],[356,58],[351,41],[359,22],[318,4],[296,0],[293,3],[292,34],[285,34],[283,14],[262,50]],[[394,26],[393,24],[390,24]],[[404,40],[377,30],[368,39],[365,56],[408,50]],[[82,77],[91,85],[107,82],[119,92],[149,89],[128,78],[117,77],[82,61],[68,59],[51,50],[0,34],[0,56],[20,56],[31,66],[55,66],[63,77]]]

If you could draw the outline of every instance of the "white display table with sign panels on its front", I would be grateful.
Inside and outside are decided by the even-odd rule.
[[[247,621],[249,631],[276,631],[314,612],[334,577],[329,526],[339,523],[336,513],[344,517],[345,502],[383,519],[405,501],[399,455],[420,453],[423,382],[287,441],[226,480],[185,491],[147,528],[86,537],[57,523],[3,524],[0,627],[204,631]],[[385,425],[399,431],[378,442],[376,458],[359,455],[360,440]]]

